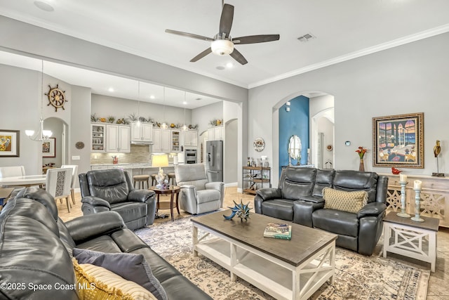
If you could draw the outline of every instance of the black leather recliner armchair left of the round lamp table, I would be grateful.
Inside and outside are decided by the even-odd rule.
[[[92,170],[79,174],[84,215],[116,211],[130,230],[151,225],[156,215],[155,193],[135,190],[127,171]]]

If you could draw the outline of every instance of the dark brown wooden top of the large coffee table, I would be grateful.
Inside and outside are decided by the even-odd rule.
[[[206,214],[191,220],[217,233],[231,237],[242,244],[247,244],[254,249],[274,256],[281,261],[286,261],[293,266],[299,266],[302,262],[309,259],[317,249],[325,247],[337,239],[337,235],[332,233],[262,214],[251,213],[248,221],[240,221],[238,216],[232,220],[225,220],[223,215],[229,216],[229,214],[231,214],[230,209]],[[291,240],[264,237],[265,227],[270,222],[291,225]]]

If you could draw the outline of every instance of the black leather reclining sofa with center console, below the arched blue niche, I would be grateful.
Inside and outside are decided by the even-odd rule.
[[[335,233],[337,246],[371,255],[382,234],[387,185],[387,176],[373,172],[287,167],[278,188],[256,191],[255,212]],[[337,202],[366,191],[366,203],[352,212],[325,207],[324,188],[342,194]]]

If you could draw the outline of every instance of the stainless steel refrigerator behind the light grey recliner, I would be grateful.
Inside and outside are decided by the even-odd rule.
[[[206,142],[208,181],[223,181],[223,141]]]

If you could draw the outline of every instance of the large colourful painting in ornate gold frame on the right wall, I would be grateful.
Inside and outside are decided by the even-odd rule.
[[[374,167],[424,168],[424,113],[373,117]]]

